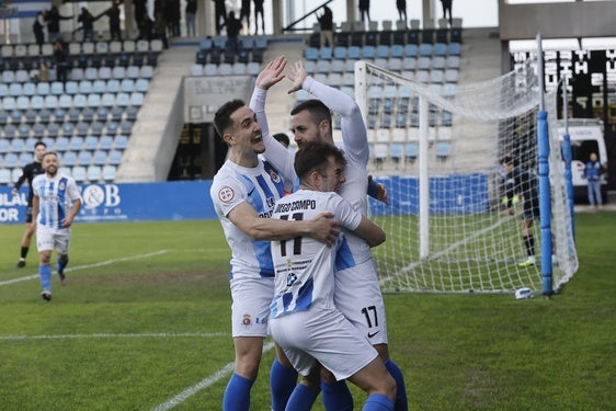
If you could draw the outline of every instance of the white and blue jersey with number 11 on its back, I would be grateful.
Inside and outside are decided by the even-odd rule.
[[[354,230],[362,215],[336,193],[299,190],[276,202],[272,218],[285,220],[313,219],[331,212],[343,228]],[[328,247],[310,237],[272,241],[272,259],[276,276],[271,318],[277,318],[310,307],[333,309],[336,253],[349,253],[344,235]]]

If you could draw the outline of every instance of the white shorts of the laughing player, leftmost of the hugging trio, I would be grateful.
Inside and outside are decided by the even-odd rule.
[[[231,279],[232,336],[267,336],[274,277]]]

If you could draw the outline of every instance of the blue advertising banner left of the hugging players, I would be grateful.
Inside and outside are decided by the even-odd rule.
[[[80,185],[83,204],[78,221],[214,219],[212,181]],[[16,196],[0,187],[0,224],[23,224],[27,186]]]

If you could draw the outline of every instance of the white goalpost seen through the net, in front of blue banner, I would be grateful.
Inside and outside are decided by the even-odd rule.
[[[419,98],[419,232],[420,258],[430,256],[430,138],[427,99]]]

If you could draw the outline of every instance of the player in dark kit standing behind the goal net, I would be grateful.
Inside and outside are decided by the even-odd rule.
[[[507,207],[513,212],[513,198],[522,197],[522,236],[526,248],[526,260],[518,265],[527,267],[535,265],[535,237],[533,221],[539,217],[539,193],[537,178],[529,170],[517,167],[516,160],[511,155],[505,155],[501,160],[504,178],[505,198]]]

